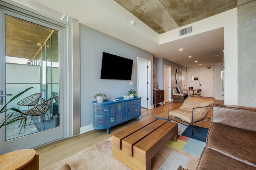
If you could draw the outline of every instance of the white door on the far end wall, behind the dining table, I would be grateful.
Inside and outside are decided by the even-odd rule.
[[[214,97],[214,68],[200,68],[199,86],[203,97]]]

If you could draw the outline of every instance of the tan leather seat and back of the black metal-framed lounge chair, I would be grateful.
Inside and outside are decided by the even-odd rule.
[[[170,116],[177,117],[188,123],[192,123],[192,109],[194,107],[211,106],[213,100],[203,98],[186,98],[179,109],[169,112]],[[210,107],[194,109],[194,122],[205,119]]]

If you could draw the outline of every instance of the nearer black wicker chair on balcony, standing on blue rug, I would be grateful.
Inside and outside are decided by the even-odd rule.
[[[43,124],[44,124],[44,114],[47,113],[48,109],[50,108],[50,105],[52,104],[53,99],[54,99],[54,97],[42,102],[41,104],[36,105],[32,109],[24,112],[23,115],[26,115],[26,116],[30,115],[31,116],[30,123],[32,121],[33,116],[38,116],[38,117],[42,116],[41,118],[43,119]],[[48,116],[48,114],[46,114],[46,115],[47,115],[49,123],[50,123],[49,116]],[[30,125],[30,123],[29,123],[29,125]],[[22,123],[22,126],[23,126],[23,124],[24,124],[24,121]],[[22,129],[22,126],[20,128],[20,131]],[[45,127],[44,127],[44,129],[45,129]]]

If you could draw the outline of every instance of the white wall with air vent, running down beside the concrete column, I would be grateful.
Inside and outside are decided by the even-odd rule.
[[[186,25],[184,27],[193,26],[193,33],[186,34],[182,37],[179,35],[180,27],[173,31],[163,33],[160,35],[160,43],[174,41],[180,38],[196,35],[216,28],[224,27],[224,63],[225,63],[225,93],[224,104],[237,105],[238,104],[238,21],[237,8],[228,10],[221,14],[206,18]]]

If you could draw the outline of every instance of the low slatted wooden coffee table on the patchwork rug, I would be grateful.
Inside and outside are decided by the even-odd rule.
[[[170,140],[178,124],[149,118],[112,135],[112,156],[132,170],[151,170],[151,159]]]

